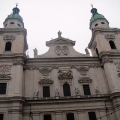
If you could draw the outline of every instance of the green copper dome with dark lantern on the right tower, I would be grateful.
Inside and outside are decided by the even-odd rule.
[[[105,19],[105,20],[107,20],[103,15],[101,15],[101,14],[99,14],[99,13],[97,12],[97,9],[96,9],[96,8],[92,8],[91,13],[92,13],[92,17],[91,17],[91,19],[90,19],[90,24],[91,24],[92,22],[94,22],[95,20],[97,20],[97,19]],[[107,21],[107,22],[108,22],[108,21]]]

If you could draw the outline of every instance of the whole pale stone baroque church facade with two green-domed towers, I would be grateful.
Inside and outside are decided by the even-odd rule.
[[[48,52],[34,58],[19,8],[0,28],[0,120],[120,120],[120,29],[91,10],[92,32],[86,54],[75,41],[46,42]]]

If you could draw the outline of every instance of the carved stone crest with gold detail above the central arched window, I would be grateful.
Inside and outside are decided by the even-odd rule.
[[[65,79],[72,79],[72,71],[71,70],[59,70],[58,71],[58,79],[65,80]]]

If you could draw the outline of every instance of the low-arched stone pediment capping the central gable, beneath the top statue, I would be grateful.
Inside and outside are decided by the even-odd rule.
[[[56,39],[50,40],[46,42],[46,46],[50,46],[52,44],[71,44],[72,46],[75,45],[75,41],[72,41],[70,39],[66,39],[63,37],[58,37]]]

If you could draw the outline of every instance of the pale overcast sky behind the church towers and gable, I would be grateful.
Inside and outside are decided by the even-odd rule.
[[[30,57],[34,48],[39,55],[47,52],[46,41],[57,38],[59,30],[62,37],[76,41],[76,51],[85,53],[91,39],[91,3],[110,27],[120,28],[120,0],[0,0],[0,28],[17,2],[27,29]]]

